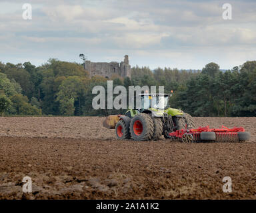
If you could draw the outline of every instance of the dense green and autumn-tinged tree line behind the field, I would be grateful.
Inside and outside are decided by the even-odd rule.
[[[198,71],[170,68],[133,67],[131,79],[113,76],[89,77],[79,63],[49,59],[36,67],[29,62],[14,65],[0,63],[0,114],[106,116],[123,114],[125,110],[94,110],[92,89],[105,87],[165,86],[165,93],[174,91],[173,108],[181,108],[193,116],[255,116],[256,61],[220,71],[209,63]]]

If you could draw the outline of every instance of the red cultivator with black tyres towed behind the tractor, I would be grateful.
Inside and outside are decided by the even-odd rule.
[[[209,126],[181,129],[169,133],[172,140],[180,140],[182,142],[242,142],[249,140],[250,133],[245,132],[243,127],[227,128],[209,128]]]

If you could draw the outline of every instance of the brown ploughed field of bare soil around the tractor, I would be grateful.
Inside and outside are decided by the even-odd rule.
[[[195,118],[243,126],[251,140],[194,144],[116,140],[103,120],[0,117],[0,199],[256,199],[256,118]]]

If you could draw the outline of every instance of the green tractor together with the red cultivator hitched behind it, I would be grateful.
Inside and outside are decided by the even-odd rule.
[[[169,107],[172,94],[139,95],[141,108],[129,109],[125,115],[110,115],[104,122],[106,128],[115,128],[118,139],[159,140],[163,135],[182,142],[241,142],[249,140],[249,132],[242,127],[197,128],[190,114]]]

